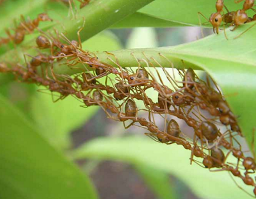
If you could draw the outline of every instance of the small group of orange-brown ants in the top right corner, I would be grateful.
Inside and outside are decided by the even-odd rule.
[[[227,6],[225,6],[223,0],[217,0],[216,1],[216,13],[212,13],[209,20],[202,13],[198,12],[198,14],[202,15],[208,22],[210,22],[212,24],[214,33],[215,33],[215,31],[217,34],[219,33],[219,28],[221,26],[222,21],[225,22],[225,24],[223,24],[224,30],[225,30],[225,26],[227,24],[230,24],[230,26],[235,26],[231,30],[231,31],[234,31],[238,26],[256,20],[256,14],[253,15],[253,17],[248,17],[248,15],[246,14],[246,11],[248,11],[250,9],[253,10],[254,12],[256,12],[256,10],[253,8],[254,0],[237,0],[237,1],[235,0],[235,3],[241,3],[241,1],[244,1],[243,8],[241,10],[230,12],[228,10]],[[225,10],[227,10],[227,13],[224,13],[223,8],[225,8]],[[254,25],[255,24],[253,24],[253,26]],[[252,27],[250,27],[250,28],[252,28]],[[241,35],[242,34],[243,33],[241,33]],[[227,38],[227,36],[226,36],[226,38]]]

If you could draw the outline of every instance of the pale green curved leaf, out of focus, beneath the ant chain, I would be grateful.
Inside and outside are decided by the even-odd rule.
[[[74,151],[73,157],[145,164],[171,173],[201,198],[240,199],[248,196],[236,186],[227,171],[211,172],[195,163],[190,165],[190,153],[179,145],[164,145],[147,137],[127,137],[94,139]],[[241,181],[237,181],[240,185]],[[246,188],[252,193],[253,187]]]

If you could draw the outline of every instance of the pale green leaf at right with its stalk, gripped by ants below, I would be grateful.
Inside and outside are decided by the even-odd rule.
[[[256,28],[253,27],[239,38],[234,38],[251,26],[252,23],[246,24],[233,32],[226,29],[228,40],[222,32],[220,35],[211,35],[202,40],[175,47],[130,49],[113,53],[122,67],[138,66],[131,56],[132,52],[136,58],[151,61],[156,67],[159,65],[157,66],[152,58],[155,58],[162,67],[172,68],[170,62],[166,61],[163,56],[159,56],[161,53],[173,62],[175,68],[192,67],[208,72],[220,85],[250,145],[256,120]],[[97,53],[97,56],[101,61],[111,64],[106,53]],[[145,64],[144,66],[147,67]],[[256,143],[254,145],[256,146]]]

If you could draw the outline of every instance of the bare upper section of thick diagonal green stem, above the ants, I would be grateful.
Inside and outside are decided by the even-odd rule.
[[[83,26],[84,22],[84,28],[80,33],[83,42],[109,26],[116,24],[125,17],[132,15],[152,1],[154,0],[92,1],[92,4],[88,4],[88,6],[81,10],[76,22],[63,22],[63,27],[65,27],[63,31],[67,32],[67,37],[70,40],[77,40],[77,31]]]

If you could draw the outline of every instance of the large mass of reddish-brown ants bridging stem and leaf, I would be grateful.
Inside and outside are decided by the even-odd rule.
[[[229,171],[244,184],[255,187],[253,193],[256,196],[256,182],[250,176],[256,170],[254,154],[253,157],[244,155],[237,140],[237,136],[242,136],[237,118],[209,76],[203,81],[188,68],[177,70],[179,81],[155,58],[148,59],[145,55],[145,59],[139,60],[131,54],[138,63],[134,72],[122,68],[115,54],[106,52],[111,65],[104,63],[92,52],[84,51],[81,42],[69,41],[63,34],[56,38],[47,33],[40,35],[36,45],[44,52],[49,49],[49,54],[40,52],[26,61],[26,65],[1,62],[0,72],[14,74],[19,81],[43,85],[47,90],[59,93],[55,102],[71,95],[85,107],[102,107],[108,118],[123,122],[125,128],[140,126],[148,131],[147,136],[159,143],[181,145],[191,150],[191,163],[210,170],[217,168],[214,171]],[[172,61],[163,54],[159,56],[170,63],[168,67],[174,68]],[[65,63],[74,70],[82,65],[86,72],[74,76],[56,74],[56,63]],[[171,86],[164,84],[156,67],[163,70]],[[156,70],[155,74],[152,68]],[[104,78],[105,82],[100,83]],[[155,101],[148,95],[153,91],[158,95]],[[139,101],[143,103],[141,109],[137,106]],[[157,125],[156,115],[163,118],[164,127]],[[180,130],[176,118],[193,129],[193,138]],[[228,162],[231,154],[236,163]]]

